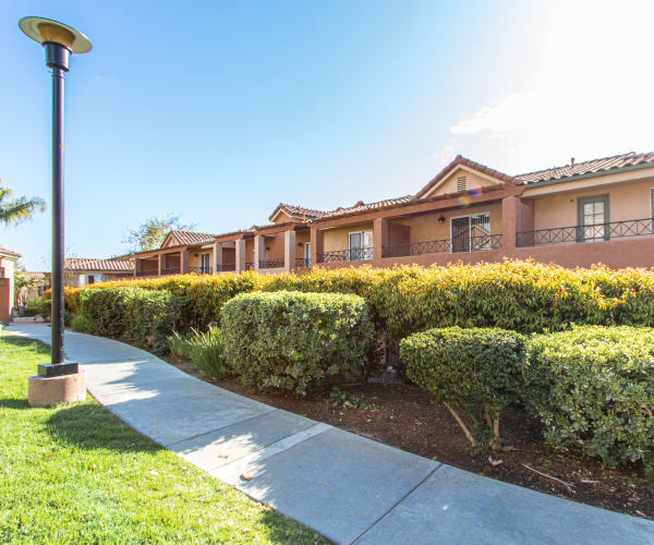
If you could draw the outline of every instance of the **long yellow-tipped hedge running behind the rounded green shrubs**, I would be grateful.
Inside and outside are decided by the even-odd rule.
[[[352,267],[305,274],[181,275],[122,280],[84,289],[137,286],[179,298],[184,327],[219,322],[222,305],[250,291],[355,293],[371,304],[391,341],[432,327],[558,330],[570,323],[654,326],[654,270],[566,269],[531,261],[500,264]],[[78,308],[78,290],[66,304]],[[74,312],[74,311],[73,311]]]

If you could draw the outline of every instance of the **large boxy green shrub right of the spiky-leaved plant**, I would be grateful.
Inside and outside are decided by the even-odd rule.
[[[329,377],[365,373],[375,330],[363,298],[244,293],[221,312],[230,371],[247,387],[304,396]]]

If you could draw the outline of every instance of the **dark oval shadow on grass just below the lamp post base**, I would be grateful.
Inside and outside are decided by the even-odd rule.
[[[46,421],[46,426],[55,440],[88,450],[156,452],[164,449],[95,403],[63,407]]]

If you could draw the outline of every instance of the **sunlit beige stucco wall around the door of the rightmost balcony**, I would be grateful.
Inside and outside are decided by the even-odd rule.
[[[610,221],[650,218],[653,187],[652,182],[639,182],[535,198],[534,229],[577,226],[579,198],[592,195],[609,195]]]

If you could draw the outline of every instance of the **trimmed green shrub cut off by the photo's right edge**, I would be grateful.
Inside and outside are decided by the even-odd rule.
[[[654,463],[654,330],[574,327],[536,335],[525,370],[525,405],[546,444],[577,446],[609,468]]]

